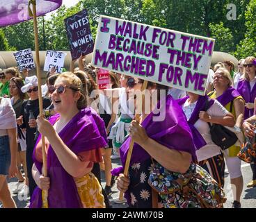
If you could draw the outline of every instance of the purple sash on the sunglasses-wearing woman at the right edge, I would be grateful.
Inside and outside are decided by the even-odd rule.
[[[250,82],[246,79],[240,80],[237,84],[237,91],[246,103],[254,103],[256,98],[256,84],[253,86],[253,90],[250,90]],[[249,117],[253,116],[253,109],[245,108],[244,110],[244,119],[248,119]]]

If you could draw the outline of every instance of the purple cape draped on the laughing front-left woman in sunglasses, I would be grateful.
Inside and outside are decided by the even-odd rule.
[[[49,119],[54,124],[59,115]],[[58,134],[63,142],[75,154],[83,151],[90,151],[106,146],[106,131],[104,122],[91,108],[81,110]],[[41,135],[38,137],[40,141]],[[33,153],[35,166],[41,172],[42,163],[35,159],[35,149]],[[80,208],[82,207],[77,186],[70,174],[65,171],[54,153],[51,145],[47,153],[47,173],[51,180],[49,189],[48,204],[50,208]],[[31,208],[42,207],[42,191],[37,187],[31,197]]]

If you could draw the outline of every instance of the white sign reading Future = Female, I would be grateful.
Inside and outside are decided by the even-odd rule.
[[[44,71],[50,71],[51,67],[55,67],[56,72],[61,74],[64,67],[65,56],[67,56],[67,54],[61,51],[47,50]]]

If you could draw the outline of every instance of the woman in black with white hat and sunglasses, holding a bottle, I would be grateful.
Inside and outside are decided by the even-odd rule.
[[[37,133],[37,124],[35,118],[39,114],[38,100],[38,78],[30,76],[25,78],[25,85],[22,87],[22,92],[27,93],[29,99],[22,104],[22,115],[17,119],[20,128],[26,129],[26,167],[29,178],[29,194],[33,194],[35,189],[35,181],[33,180],[31,169],[33,166],[33,148],[35,146],[35,136]],[[42,98],[42,108],[46,109],[51,105],[49,98]]]

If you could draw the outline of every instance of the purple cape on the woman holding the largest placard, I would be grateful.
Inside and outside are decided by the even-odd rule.
[[[159,144],[162,144],[170,149],[188,152],[192,155],[193,159],[195,159],[193,137],[184,112],[182,112],[182,109],[172,96],[168,95],[165,99],[166,105],[163,106],[161,105],[162,103],[159,103],[157,107],[160,107],[161,105],[160,113],[163,114],[163,112],[165,112],[166,118],[161,122],[153,121],[154,114],[151,112],[144,119],[141,125],[143,128],[145,128],[147,135],[151,139],[154,139],[155,141],[159,142]],[[125,166],[130,142],[131,137],[128,137],[120,148],[122,166]],[[143,162],[149,158],[150,155],[147,153],[147,151],[135,143],[131,155],[130,166],[136,162]]]

